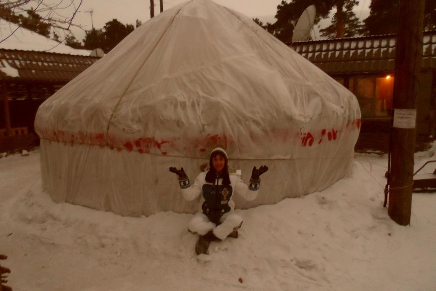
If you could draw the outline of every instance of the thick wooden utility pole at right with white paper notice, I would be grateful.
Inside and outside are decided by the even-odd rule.
[[[388,213],[392,220],[402,226],[410,224],[412,209],[416,99],[422,64],[423,19],[424,0],[400,0]]]

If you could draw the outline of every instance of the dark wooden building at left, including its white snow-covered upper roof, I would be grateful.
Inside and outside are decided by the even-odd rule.
[[[38,144],[38,106],[99,58],[2,18],[0,35],[1,153]]]

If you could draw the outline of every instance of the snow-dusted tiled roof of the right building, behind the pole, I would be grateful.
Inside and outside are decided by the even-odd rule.
[[[393,71],[396,34],[300,41],[291,48],[327,74]],[[422,69],[436,69],[436,31],[424,32]]]

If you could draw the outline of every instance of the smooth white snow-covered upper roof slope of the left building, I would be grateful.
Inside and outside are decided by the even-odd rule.
[[[0,49],[45,51],[80,56],[91,54],[91,50],[73,49],[2,18],[0,18],[0,41]]]

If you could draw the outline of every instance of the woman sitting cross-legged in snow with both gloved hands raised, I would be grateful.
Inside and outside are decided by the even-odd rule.
[[[195,251],[197,255],[208,254],[212,241],[224,240],[227,236],[237,238],[242,218],[234,213],[233,193],[247,200],[254,200],[259,189],[259,176],[268,170],[267,166],[253,167],[249,187],[235,174],[229,174],[227,153],[217,147],[209,158],[209,170],[200,173],[192,185],[183,168],[170,167],[170,172],[179,176],[183,197],[193,200],[202,194],[201,210],[188,224],[188,230],[200,236]]]

